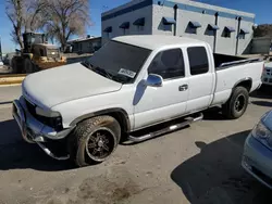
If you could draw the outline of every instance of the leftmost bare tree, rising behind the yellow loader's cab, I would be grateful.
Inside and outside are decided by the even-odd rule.
[[[42,27],[41,11],[46,7],[45,0],[7,0],[5,13],[13,25],[11,37],[21,49],[24,48],[22,34]]]

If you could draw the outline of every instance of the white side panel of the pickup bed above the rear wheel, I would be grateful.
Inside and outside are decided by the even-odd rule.
[[[232,94],[233,88],[240,81],[250,79],[252,86],[250,92],[261,84],[263,62],[236,65],[217,71],[217,87],[213,105],[225,103]]]

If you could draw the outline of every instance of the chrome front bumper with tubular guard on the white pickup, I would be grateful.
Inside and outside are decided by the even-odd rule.
[[[28,113],[24,98],[21,97],[20,100],[13,101],[12,115],[16,120],[23,139],[28,143],[37,143],[46,154],[55,160],[67,160],[69,155],[57,156],[46,143],[50,140],[62,140],[64,139],[73,128],[64,129],[57,132],[53,128],[48,127]]]

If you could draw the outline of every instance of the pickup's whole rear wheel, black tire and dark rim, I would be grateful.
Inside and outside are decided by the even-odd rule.
[[[248,90],[245,87],[236,87],[228,101],[222,106],[223,114],[228,119],[239,118],[247,110],[248,100]]]

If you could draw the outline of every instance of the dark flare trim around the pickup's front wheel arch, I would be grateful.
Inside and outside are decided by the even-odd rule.
[[[131,131],[131,122],[129,122],[129,117],[128,117],[128,114],[126,113],[125,110],[121,109],[121,107],[113,107],[113,109],[107,109],[107,110],[101,110],[101,111],[97,111],[97,112],[92,112],[92,113],[88,113],[88,114],[85,114],[85,115],[82,115],[77,118],[75,118],[71,124],[70,126],[73,127],[73,126],[76,126],[79,122],[84,120],[84,119],[87,119],[87,118],[91,118],[91,117],[95,117],[95,116],[98,116],[98,115],[106,115],[106,114],[122,114],[122,120],[124,123],[124,128],[126,131]]]

